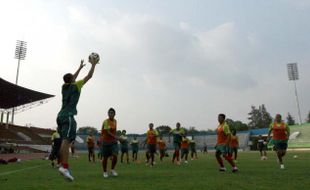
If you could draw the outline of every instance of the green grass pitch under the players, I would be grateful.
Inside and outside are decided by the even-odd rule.
[[[0,189],[277,189],[301,190],[310,188],[310,152],[288,152],[285,170],[280,170],[274,152],[261,161],[258,152],[240,152],[238,173],[220,173],[213,153],[199,155],[188,165],[172,165],[170,158],[164,163],[156,160],[154,167],[140,164],[117,165],[118,177],[102,177],[99,162],[89,163],[86,155],[71,159],[73,182],[65,181],[57,169],[46,160],[32,160],[0,165]],[[298,155],[297,159],[293,155]],[[143,155],[140,154],[143,160]]]

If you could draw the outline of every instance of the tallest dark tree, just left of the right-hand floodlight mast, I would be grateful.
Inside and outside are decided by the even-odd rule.
[[[267,128],[272,122],[272,117],[270,113],[267,112],[267,109],[264,104],[256,109],[255,106],[251,106],[251,112],[249,113],[248,119],[250,122],[248,126],[250,129],[255,128]]]

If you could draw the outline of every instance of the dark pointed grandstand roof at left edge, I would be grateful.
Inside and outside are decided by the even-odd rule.
[[[0,89],[0,109],[9,109],[54,97],[54,95],[12,84],[2,78],[0,78]]]

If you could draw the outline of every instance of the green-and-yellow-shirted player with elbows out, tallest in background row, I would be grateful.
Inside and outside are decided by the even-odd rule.
[[[176,128],[172,129],[169,132],[169,142],[170,142],[170,135],[173,135],[173,145],[174,145],[174,153],[172,157],[172,163],[174,163],[175,159],[177,159],[177,164],[180,165],[180,148],[182,137],[185,136],[184,129],[181,128],[181,124],[178,122],[176,124]]]

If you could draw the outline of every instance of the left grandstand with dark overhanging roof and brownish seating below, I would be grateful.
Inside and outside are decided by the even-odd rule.
[[[52,130],[36,127],[24,127],[9,123],[9,114],[14,108],[15,113],[25,111],[35,104],[41,105],[43,100],[54,95],[30,90],[0,78],[0,147],[11,151],[18,147],[18,151],[42,152],[50,149]],[[3,122],[7,115],[6,123]]]

